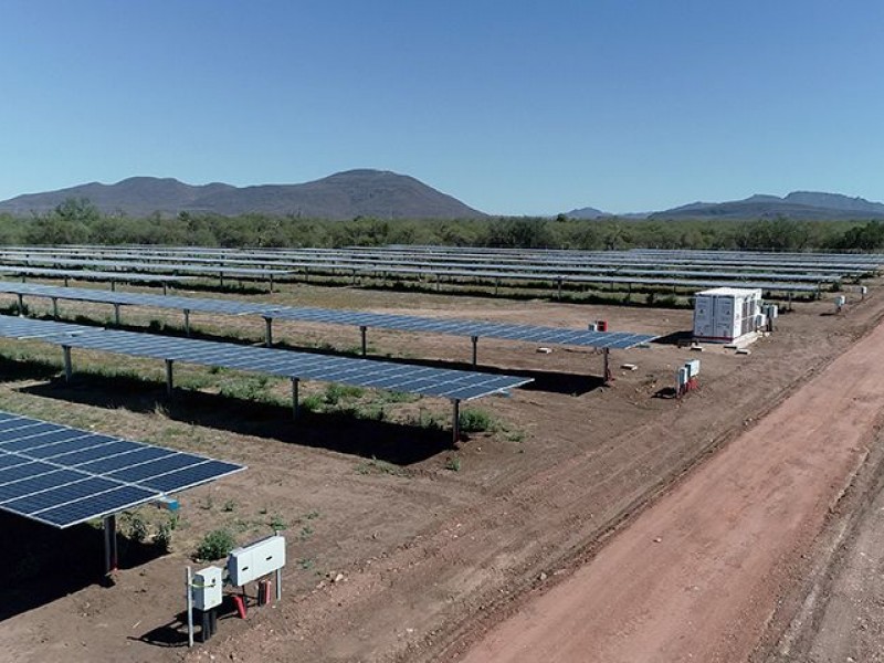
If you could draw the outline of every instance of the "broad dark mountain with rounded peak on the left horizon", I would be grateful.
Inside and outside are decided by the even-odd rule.
[[[0,202],[0,212],[44,213],[67,198],[88,198],[106,213],[146,217],[154,212],[249,212],[318,219],[473,219],[483,212],[428,187],[413,177],[387,170],[348,170],[301,185],[191,186],[176,179],[134,177],[116,185],[92,182],[29,193]]]

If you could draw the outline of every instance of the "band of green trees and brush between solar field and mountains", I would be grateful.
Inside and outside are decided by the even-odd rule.
[[[880,251],[884,222],[802,221],[777,217],[746,221],[503,217],[463,220],[349,221],[181,212],[146,219],[102,213],[87,199],[54,210],[0,214],[2,244],[166,244],[222,248],[379,246],[441,244],[520,249],[709,249],[766,251]]]

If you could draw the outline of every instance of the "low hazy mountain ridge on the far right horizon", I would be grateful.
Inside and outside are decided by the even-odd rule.
[[[876,219],[884,218],[884,204],[841,193],[793,191],[785,198],[755,194],[730,202],[692,202],[653,212],[651,219]]]

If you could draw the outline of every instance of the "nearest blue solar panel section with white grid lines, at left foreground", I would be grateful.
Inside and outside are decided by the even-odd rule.
[[[243,465],[0,411],[0,509],[65,528]]]

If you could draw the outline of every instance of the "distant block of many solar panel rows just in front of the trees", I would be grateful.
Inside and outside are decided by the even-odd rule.
[[[740,251],[566,251],[442,246],[222,250],[199,248],[8,248],[0,261],[107,266],[140,274],[240,277],[343,275],[435,278],[457,284],[493,280],[632,288],[760,287],[817,293],[843,277],[876,273],[884,256]],[[33,269],[33,267],[32,267]],[[72,270],[75,272],[76,270]],[[130,272],[129,272],[130,273]]]

